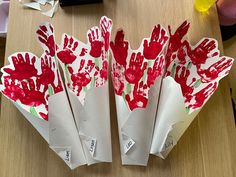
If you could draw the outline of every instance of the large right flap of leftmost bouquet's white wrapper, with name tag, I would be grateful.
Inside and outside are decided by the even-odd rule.
[[[86,164],[65,91],[49,97],[49,146],[71,168]]]

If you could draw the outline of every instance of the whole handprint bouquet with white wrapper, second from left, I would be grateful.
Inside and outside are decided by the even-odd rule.
[[[87,164],[111,162],[108,49],[112,21],[92,27],[88,43],[64,34],[57,57],[63,68]]]

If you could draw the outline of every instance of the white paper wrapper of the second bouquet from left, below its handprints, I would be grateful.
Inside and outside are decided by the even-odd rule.
[[[107,84],[89,89],[84,106],[68,91],[88,165],[112,161],[110,108]]]

